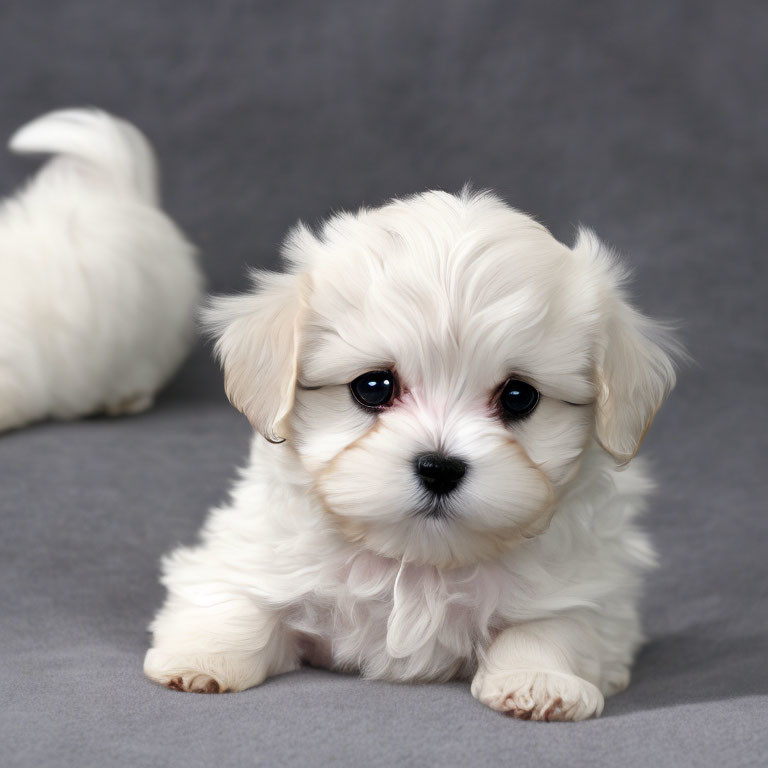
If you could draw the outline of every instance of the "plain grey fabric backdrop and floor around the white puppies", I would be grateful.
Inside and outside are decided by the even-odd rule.
[[[148,414],[0,436],[0,762],[765,765],[767,36],[757,1],[6,0],[0,135],[79,104],[136,122],[212,289],[274,264],[297,218],[471,180],[630,254],[695,364],[644,448],[650,642],[575,726],[507,720],[463,684],[143,679],[158,557],[248,440],[202,345]],[[0,186],[33,167],[0,154]]]

